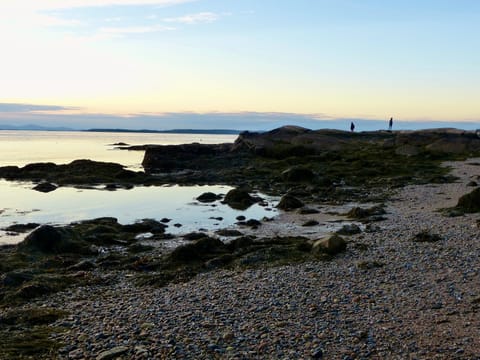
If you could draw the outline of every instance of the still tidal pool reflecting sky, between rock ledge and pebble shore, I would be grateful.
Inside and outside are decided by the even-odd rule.
[[[231,189],[227,186],[152,186],[116,191],[60,187],[46,194],[32,190],[32,187],[30,183],[0,180],[0,228],[28,222],[66,224],[103,216],[116,217],[123,224],[143,218],[160,220],[166,217],[172,219],[168,232],[186,233],[200,228],[230,226],[239,215],[247,219],[261,219],[276,214],[271,199],[267,199],[271,211],[259,205],[239,211],[219,201],[212,206],[195,200],[207,191],[226,194]],[[222,217],[223,220],[212,217]],[[173,226],[175,223],[183,226],[176,228]],[[6,242],[12,240],[0,232],[0,244]]]

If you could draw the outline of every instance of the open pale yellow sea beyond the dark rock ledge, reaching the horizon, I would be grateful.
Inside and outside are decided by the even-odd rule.
[[[115,162],[139,170],[143,151],[119,150],[116,143],[129,145],[178,145],[231,143],[236,135],[96,133],[80,131],[0,131],[0,166],[24,166],[36,162],[67,164],[90,159]]]

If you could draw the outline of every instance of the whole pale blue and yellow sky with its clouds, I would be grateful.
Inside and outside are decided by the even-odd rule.
[[[479,18],[478,0],[0,0],[0,124],[475,123]]]

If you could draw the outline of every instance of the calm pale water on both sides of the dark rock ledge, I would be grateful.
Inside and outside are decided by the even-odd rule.
[[[141,171],[143,151],[120,150],[128,145],[178,145],[232,143],[236,135],[107,133],[67,131],[0,131],[0,166],[24,166],[30,163],[67,164],[77,159],[115,162]],[[239,215],[247,219],[275,216],[278,199],[259,194],[268,203],[253,205],[245,211],[234,210],[220,201],[200,203],[204,192],[226,194],[231,187],[212,186],[137,186],[107,191],[100,188],[59,187],[50,193],[33,190],[31,182],[0,179],[0,245],[15,244],[25,235],[5,231],[13,224],[39,223],[64,225],[98,217],[115,217],[122,224],[149,218],[171,219],[167,232],[172,234],[228,228]]]

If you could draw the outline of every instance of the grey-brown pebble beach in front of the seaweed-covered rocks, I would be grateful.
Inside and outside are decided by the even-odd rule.
[[[396,189],[386,220],[330,261],[162,288],[107,272],[29,306],[68,312],[52,324],[58,359],[480,359],[479,215],[438,211],[472,190],[479,165],[445,163],[456,182]],[[423,230],[440,240],[412,241]]]

